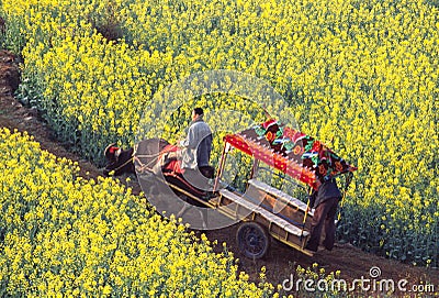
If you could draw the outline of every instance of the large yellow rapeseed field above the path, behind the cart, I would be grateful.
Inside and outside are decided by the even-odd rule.
[[[116,139],[132,144],[142,115],[157,117],[154,96],[171,81],[210,69],[243,71],[271,84],[302,131],[359,167],[340,227],[346,240],[438,265],[439,13],[428,1],[1,5],[10,29],[20,27],[15,35],[25,40],[22,97],[87,157],[99,161]],[[238,96],[196,100],[207,113],[249,106]],[[157,123],[169,140],[187,125],[191,102]],[[223,126],[247,123],[233,113],[222,119]],[[157,136],[154,130],[145,135]]]

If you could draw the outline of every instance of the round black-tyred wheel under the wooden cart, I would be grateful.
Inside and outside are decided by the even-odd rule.
[[[269,235],[259,223],[243,222],[236,232],[236,242],[239,251],[248,258],[261,258],[270,244]]]

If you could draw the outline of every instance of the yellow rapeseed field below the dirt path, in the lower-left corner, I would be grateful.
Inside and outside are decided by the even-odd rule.
[[[230,253],[112,179],[0,129],[0,293],[25,297],[268,297]]]

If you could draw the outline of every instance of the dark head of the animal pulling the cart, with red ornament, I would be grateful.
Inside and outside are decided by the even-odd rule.
[[[103,175],[108,177],[114,172],[114,176],[120,176],[125,173],[134,174],[133,148],[122,150],[112,143],[104,151],[106,165],[103,169]]]

